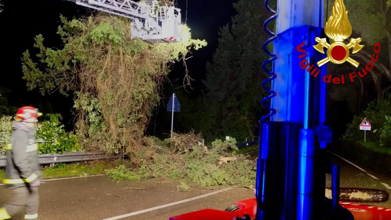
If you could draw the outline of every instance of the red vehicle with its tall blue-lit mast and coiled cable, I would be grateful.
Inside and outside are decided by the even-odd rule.
[[[296,51],[305,42],[302,49],[308,63],[325,59],[312,47],[318,43],[316,37],[326,39],[324,0],[277,0],[277,11],[268,2],[265,0],[265,6],[273,15],[263,27],[271,38],[263,49],[271,58],[262,67],[270,78],[261,85],[270,95],[261,103],[270,113],[259,121],[255,198],[235,202],[225,211],[203,209],[169,220],[391,219],[391,209],[349,202],[348,198],[340,201],[339,166],[325,157],[326,144],[332,142],[332,132],[325,124],[326,84],[321,80],[326,76],[326,65],[319,67],[320,76],[312,77],[301,69],[299,56],[303,53]],[[338,7],[343,4],[335,2]],[[274,19],[276,33],[267,29],[267,23]],[[267,49],[271,42],[273,53]],[[273,64],[271,70],[266,68],[268,63]],[[326,173],[332,177],[331,199],[325,197]],[[388,193],[383,192],[388,199]]]

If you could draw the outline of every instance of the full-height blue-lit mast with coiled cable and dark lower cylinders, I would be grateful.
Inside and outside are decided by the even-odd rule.
[[[323,34],[323,2],[278,0],[276,35],[269,39],[273,54],[264,45],[274,62],[271,72],[266,71],[271,78],[262,83],[265,88],[271,81],[271,95],[262,100],[271,114],[260,120],[256,220],[312,220],[322,213],[314,206],[324,202],[325,186],[315,182],[325,182],[325,177],[316,175],[314,168],[321,165],[316,152],[330,141],[330,131],[324,124],[326,65],[316,65],[325,55],[312,45]]]

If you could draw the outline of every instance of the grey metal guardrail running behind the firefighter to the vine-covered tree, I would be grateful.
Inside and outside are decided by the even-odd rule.
[[[102,159],[117,159],[122,157],[121,155],[106,155],[99,153],[66,153],[66,154],[42,154],[39,155],[40,164],[55,164],[66,162],[82,162],[89,160],[102,160]],[[7,164],[7,157],[0,156],[0,167],[4,167]]]

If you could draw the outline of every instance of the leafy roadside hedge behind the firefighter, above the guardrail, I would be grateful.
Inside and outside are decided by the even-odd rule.
[[[76,135],[65,132],[61,124],[61,115],[48,114],[48,120],[38,122],[36,126],[36,139],[43,141],[38,143],[39,154],[62,154],[82,151]],[[13,131],[14,118],[3,116],[0,118],[0,155],[5,154],[5,146]]]

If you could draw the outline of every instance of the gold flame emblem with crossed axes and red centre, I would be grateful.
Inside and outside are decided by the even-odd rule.
[[[359,62],[353,60],[349,55],[349,50],[353,48],[352,54],[359,52],[364,45],[361,45],[362,38],[350,39],[350,43],[345,44],[344,40],[352,35],[352,25],[348,19],[348,11],[343,4],[343,0],[335,0],[330,18],[328,18],[325,25],[325,34],[331,38],[334,42],[327,43],[326,38],[315,38],[318,43],[314,45],[317,51],[325,54],[323,48],[327,49],[326,58],[318,61],[316,64],[321,67],[329,61],[334,64],[342,64],[348,62],[354,67],[360,65]]]

